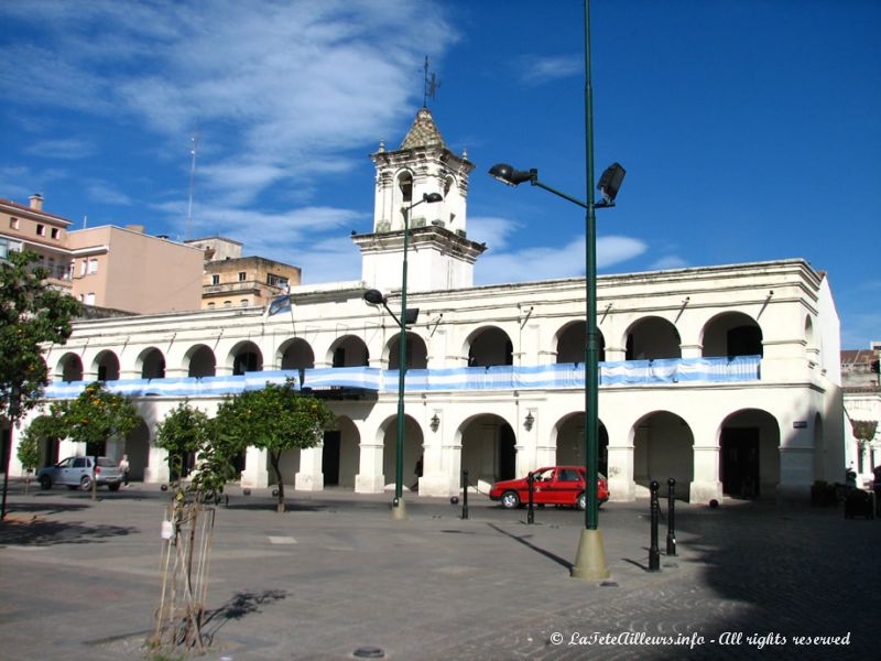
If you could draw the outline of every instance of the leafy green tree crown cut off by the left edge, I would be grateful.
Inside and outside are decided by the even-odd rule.
[[[13,414],[36,405],[48,382],[43,360],[45,344],[64,344],[79,303],[46,285],[47,272],[32,267],[37,256],[10,251],[0,261],[0,411],[13,399]]]

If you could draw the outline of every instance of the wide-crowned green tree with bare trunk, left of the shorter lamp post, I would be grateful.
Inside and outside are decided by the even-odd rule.
[[[279,487],[276,509],[283,512],[282,453],[315,447],[334,419],[334,412],[322,400],[302,394],[289,379],[283,386],[267,383],[261,390],[227,397],[217,410],[215,423],[240,447],[267,451]]]

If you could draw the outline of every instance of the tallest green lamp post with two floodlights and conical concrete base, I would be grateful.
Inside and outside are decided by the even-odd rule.
[[[585,143],[587,153],[587,202],[567,195],[539,181],[539,171],[516,170],[507,163],[493,165],[489,174],[509,186],[530,182],[586,209],[585,217],[585,470],[587,475],[587,507],[585,528],[578,541],[578,551],[572,568],[574,578],[599,579],[609,576],[606,550],[599,530],[599,416],[598,416],[598,342],[597,342],[597,227],[595,209],[614,206],[614,197],[623,182],[626,171],[613,163],[602,173],[597,188],[601,202],[594,201],[594,108],[590,87],[590,8],[585,0]]]

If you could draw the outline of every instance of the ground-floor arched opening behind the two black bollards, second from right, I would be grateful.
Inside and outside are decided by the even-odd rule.
[[[648,491],[652,480],[676,480],[676,496],[688,498],[694,480],[694,434],[668,411],[645,415],[633,426],[633,479]]]

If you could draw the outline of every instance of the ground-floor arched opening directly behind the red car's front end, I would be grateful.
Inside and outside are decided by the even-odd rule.
[[[508,422],[492,413],[477,415],[461,425],[461,468],[468,481],[483,486],[516,476],[516,437]]]

